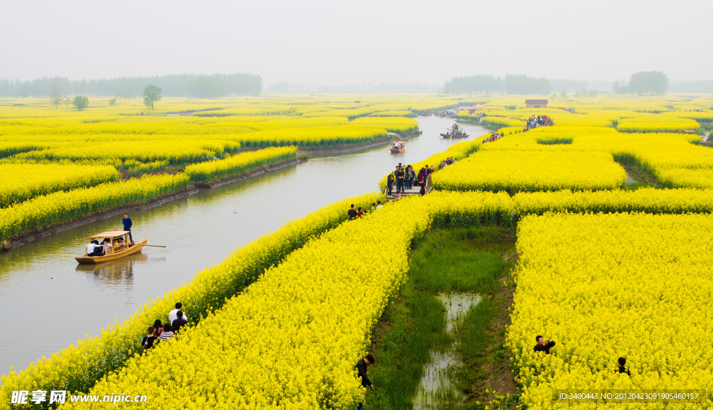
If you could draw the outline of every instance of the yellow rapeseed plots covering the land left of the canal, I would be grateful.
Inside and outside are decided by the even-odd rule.
[[[294,160],[299,148],[416,133],[406,117],[449,103],[353,97],[165,98],[146,112],[133,100],[84,111],[0,101],[0,241]]]

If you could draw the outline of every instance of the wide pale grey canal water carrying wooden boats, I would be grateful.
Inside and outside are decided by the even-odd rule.
[[[86,237],[121,229],[116,215],[0,252],[0,374],[93,337],[149,298],[190,282],[236,247],[324,205],[376,190],[396,164],[424,160],[463,140],[438,138],[453,124],[450,118],[416,119],[423,134],[407,141],[405,153],[391,154],[384,144],[325,155],[130,215],[134,240],[148,237],[165,248],[78,265],[74,256],[83,253]],[[466,140],[487,133],[475,125],[465,128],[471,134]]]

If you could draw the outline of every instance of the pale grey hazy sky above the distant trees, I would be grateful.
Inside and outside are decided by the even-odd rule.
[[[3,1],[0,78],[713,79],[713,0]]]

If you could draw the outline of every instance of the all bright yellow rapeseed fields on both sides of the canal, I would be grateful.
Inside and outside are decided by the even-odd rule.
[[[179,172],[120,182],[78,180],[66,188],[58,185],[63,178],[39,180],[39,188],[12,194],[25,195],[24,202],[0,209],[0,240],[180,190],[189,178],[223,178],[251,164],[294,158],[295,146],[412,133],[418,124],[406,117],[421,111],[482,103],[485,108],[461,112],[458,119],[477,123],[482,113],[482,125],[503,133],[416,163],[418,170],[458,159],[433,175],[438,191],[346,223],[348,203],[364,206],[381,196],[344,200],[289,222],[117,321],[101,337],[4,377],[1,396],[64,388],[99,395],[151,392],[155,396],[140,405],[149,409],[353,409],[364,396],[354,363],[404,281],[411,243],[431,227],[473,225],[518,226],[520,262],[507,343],[523,386],[521,404],[553,408],[553,388],[711,391],[705,347],[713,330],[707,324],[713,271],[706,260],[713,245],[707,237],[713,228],[713,155],[697,144],[709,133],[713,98],[553,96],[543,109],[525,108],[524,99],[167,98],[148,116],[139,115],[144,108],[136,101],[84,113],[39,101],[0,104],[0,170],[51,165],[105,166],[114,176],[117,170]],[[155,115],[166,113],[195,115]],[[533,114],[550,116],[554,125],[522,132]],[[243,148],[267,149],[238,153]],[[657,188],[620,189],[624,167],[650,175]],[[394,220],[400,223],[394,226]],[[200,322],[141,355],[140,335],[175,299],[186,301]],[[533,352],[536,334],[558,342],[548,357]],[[630,377],[614,373],[620,356],[629,360]]]

